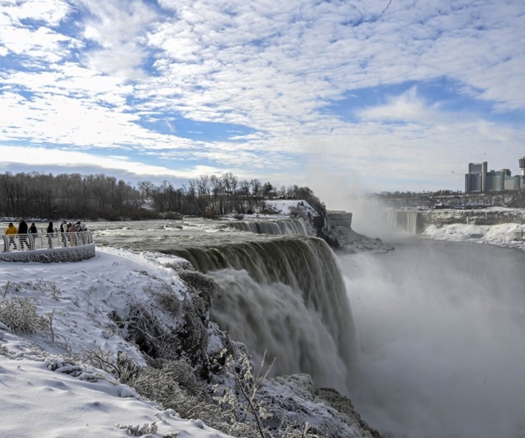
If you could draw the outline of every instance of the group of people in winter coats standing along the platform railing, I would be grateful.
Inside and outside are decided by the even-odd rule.
[[[77,244],[76,238],[71,235],[68,236],[67,233],[77,233],[79,231],[87,231],[87,227],[80,220],[78,222],[67,222],[65,220],[60,224],[60,233],[62,235],[62,244],[66,245],[66,242],[70,244]],[[47,228],[45,230],[45,235],[49,242],[49,248],[52,247],[52,238],[55,235],[58,235],[58,229],[54,227],[53,221],[49,221]],[[9,222],[8,227],[5,229],[5,235],[8,235],[9,238],[9,247],[13,246],[14,249],[18,249],[16,246],[15,235],[18,235],[18,241],[20,244],[20,249],[30,249],[30,242],[28,241],[28,234],[38,234],[38,229],[36,225],[32,222],[30,227],[27,227],[27,222],[23,219],[19,219],[18,228],[14,226],[13,222]]]

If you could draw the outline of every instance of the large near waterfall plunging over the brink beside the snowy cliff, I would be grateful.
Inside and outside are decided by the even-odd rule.
[[[357,358],[345,284],[334,253],[318,238],[287,236],[257,242],[170,251],[220,286],[212,317],[242,341],[274,375],[309,373],[316,386],[346,391]]]

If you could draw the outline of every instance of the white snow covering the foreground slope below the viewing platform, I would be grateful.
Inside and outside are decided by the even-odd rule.
[[[0,325],[0,436],[228,437],[200,420],[180,419],[141,399],[113,376],[66,359],[67,349],[124,351],[139,364],[141,353],[121,338],[108,319],[130,294],[185,286],[167,264],[177,257],[97,248],[76,263],[0,262],[0,297],[34,299],[40,316],[52,315],[54,342],[40,331],[15,335]]]

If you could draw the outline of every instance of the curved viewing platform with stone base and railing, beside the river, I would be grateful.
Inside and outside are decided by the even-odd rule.
[[[2,237],[0,261],[3,262],[80,262],[95,257],[91,231],[4,234]]]

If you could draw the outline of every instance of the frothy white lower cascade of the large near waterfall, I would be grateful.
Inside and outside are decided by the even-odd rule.
[[[265,365],[277,358],[272,375],[309,373],[318,386],[346,389],[347,364],[334,334],[300,291],[280,281],[259,284],[246,270],[208,275],[220,284],[223,295],[213,301],[213,319],[231,338],[248,345],[257,365],[266,351]]]

